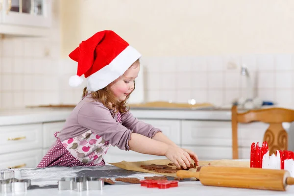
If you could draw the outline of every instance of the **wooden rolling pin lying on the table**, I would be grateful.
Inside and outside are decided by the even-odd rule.
[[[180,178],[197,178],[207,186],[286,191],[294,178],[285,170],[203,166],[200,172],[178,171]]]

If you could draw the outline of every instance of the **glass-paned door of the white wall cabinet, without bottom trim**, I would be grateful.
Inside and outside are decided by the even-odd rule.
[[[52,0],[2,0],[2,23],[50,27]]]

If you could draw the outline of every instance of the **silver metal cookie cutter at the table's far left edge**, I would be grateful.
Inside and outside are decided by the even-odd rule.
[[[30,186],[29,179],[10,178],[0,180],[0,193],[24,193]]]

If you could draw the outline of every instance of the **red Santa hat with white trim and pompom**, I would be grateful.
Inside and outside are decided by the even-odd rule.
[[[79,86],[84,74],[87,90],[98,91],[123,75],[141,54],[115,32],[104,30],[82,41],[69,57],[77,62],[77,74],[69,85]]]

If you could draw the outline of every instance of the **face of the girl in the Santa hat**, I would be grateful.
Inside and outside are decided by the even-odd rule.
[[[123,75],[110,84],[110,89],[119,101],[123,101],[134,90],[134,81],[140,71],[139,62],[133,64]]]

